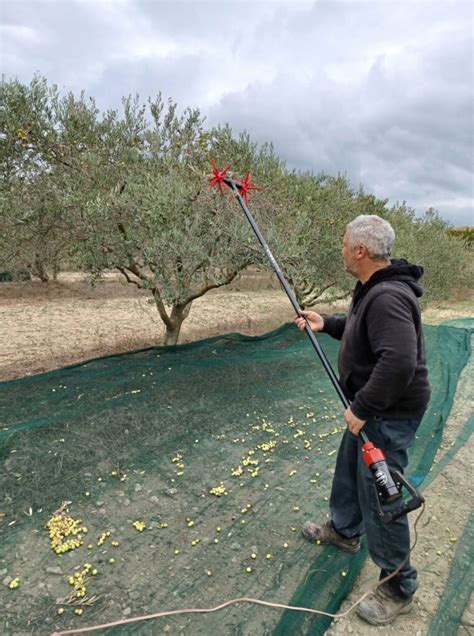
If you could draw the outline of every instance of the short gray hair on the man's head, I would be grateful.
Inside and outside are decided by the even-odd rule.
[[[349,245],[364,245],[374,261],[389,260],[395,232],[388,221],[376,214],[361,214],[348,223]]]

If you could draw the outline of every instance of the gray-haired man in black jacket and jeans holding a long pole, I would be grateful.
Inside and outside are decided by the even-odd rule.
[[[358,279],[349,313],[337,317],[301,311],[296,319],[301,330],[308,323],[313,331],[341,340],[340,383],[351,401],[344,412],[347,430],[336,461],[331,519],[325,524],[306,521],[303,536],[357,552],[365,532],[381,579],[409,553],[408,520],[406,515],[390,523],[380,520],[358,433],[364,427],[368,438],[384,451],[388,465],[403,472],[407,448],[430,398],[417,301],[423,293],[418,284],[423,268],[390,260],[394,240],[392,226],[378,216],[361,215],[349,223],[342,256],[346,271]],[[416,579],[416,569],[407,558],[398,574],[358,605],[358,614],[373,625],[391,623],[410,611]]]

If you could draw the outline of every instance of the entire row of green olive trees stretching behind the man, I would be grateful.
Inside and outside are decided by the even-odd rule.
[[[232,196],[209,189],[210,159],[264,186],[250,207],[302,306],[349,293],[340,243],[358,214],[394,225],[396,255],[425,267],[428,300],[463,283],[465,241],[434,210],[419,218],[344,176],[291,171],[272,144],[205,127],[198,109],[160,94],[101,113],[40,75],[0,87],[0,271],[47,282],[64,266],[93,279],[115,269],[149,290],[176,343],[193,300],[250,265],[268,267]]]

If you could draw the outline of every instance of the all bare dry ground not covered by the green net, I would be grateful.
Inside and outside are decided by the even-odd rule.
[[[328,309],[342,311],[344,304]],[[473,315],[473,301],[464,296],[456,302],[429,307],[424,312],[424,321],[437,324]],[[39,282],[4,283],[0,285],[0,318],[0,380],[32,375],[111,353],[159,345],[163,337],[157,311],[148,302],[147,294],[122,284],[113,274],[107,275],[94,288],[84,276],[72,273],[60,274],[57,282],[48,285]],[[195,301],[184,323],[180,342],[229,332],[258,335],[292,318],[288,300],[275,281],[253,273],[236,283],[233,289],[216,291]],[[438,459],[450,448],[469,413],[472,413],[472,372],[471,361],[461,376]],[[417,596],[418,611],[403,617],[393,628],[384,628],[384,633],[405,632],[420,636],[427,633],[456,549],[451,539],[462,534],[470,514],[472,451],[470,440],[425,492],[427,511],[418,527],[420,536],[414,556],[421,581]],[[465,496],[459,497],[460,490]],[[349,601],[362,594],[374,576],[375,568],[368,563]],[[346,608],[347,605],[343,607]],[[463,619],[466,631],[460,633],[469,633],[473,620],[471,607]],[[369,628],[356,616],[350,615],[336,621],[329,633],[363,635],[377,631],[380,630]]]

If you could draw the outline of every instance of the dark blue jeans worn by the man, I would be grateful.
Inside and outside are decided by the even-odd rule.
[[[407,448],[415,437],[421,417],[409,420],[371,418],[364,425],[368,438],[381,448],[390,468],[403,473],[408,463]],[[362,457],[362,440],[346,430],[336,461],[330,510],[334,529],[347,538],[365,532],[370,556],[380,567],[380,578],[397,569],[410,550],[407,516],[381,521],[376,505],[372,474]],[[397,502],[393,505],[397,507]],[[387,582],[395,596],[410,597],[417,587],[416,569],[406,561],[400,572]]]

